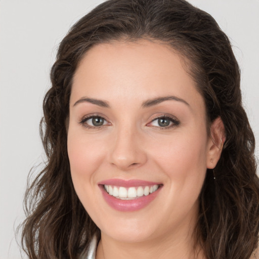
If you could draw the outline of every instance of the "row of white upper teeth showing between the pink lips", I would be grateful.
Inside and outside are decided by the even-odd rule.
[[[158,189],[158,185],[139,186],[125,188],[121,186],[104,185],[104,189],[110,195],[119,199],[132,199],[137,197],[147,196]]]

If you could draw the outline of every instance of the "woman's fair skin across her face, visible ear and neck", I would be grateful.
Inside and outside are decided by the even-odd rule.
[[[165,96],[184,101],[142,107]],[[78,101],[85,97],[109,108]],[[105,118],[102,127],[91,126],[92,119],[80,123],[93,114]],[[179,124],[159,126],[155,119],[164,114]],[[224,142],[221,119],[211,124],[208,136],[205,117],[194,80],[166,45],[121,41],[87,52],[74,75],[67,144],[75,191],[101,230],[97,259],[195,257],[198,196]],[[98,186],[113,178],[163,187],[146,207],[122,212],[106,203]],[[197,257],[204,258],[202,251]]]

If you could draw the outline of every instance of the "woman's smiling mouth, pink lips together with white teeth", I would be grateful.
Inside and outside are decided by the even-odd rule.
[[[162,184],[141,180],[110,179],[99,183],[105,201],[119,211],[135,211],[147,206]]]

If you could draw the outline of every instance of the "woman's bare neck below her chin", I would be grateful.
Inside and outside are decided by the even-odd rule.
[[[130,243],[102,233],[96,259],[205,259],[202,249],[195,246],[194,235],[190,235],[193,230],[191,227],[184,234],[183,231],[174,231],[174,234]]]

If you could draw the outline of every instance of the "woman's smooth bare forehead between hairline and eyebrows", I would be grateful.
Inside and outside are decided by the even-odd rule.
[[[203,105],[183,58],[165,44],[149,40],[113,42],[91,48],[75,72],[71,102],[83,96],[111,102],[174,95]]]

